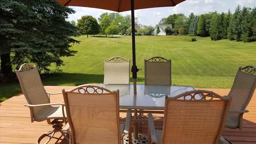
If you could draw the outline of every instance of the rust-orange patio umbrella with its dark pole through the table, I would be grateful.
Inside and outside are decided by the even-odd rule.
[[[143,8],[157,8],[166,6],[176,6],[185,0],[56,0],[63,6],[83,6],[89,8],[100,8],[112,10],[115,12],[124,12],[131,10],[132,16],[132,78],[134,82],[134,94],[136,91],[136,78],[138,68],[136,66],[135,56],[135,26],[134,10]]]

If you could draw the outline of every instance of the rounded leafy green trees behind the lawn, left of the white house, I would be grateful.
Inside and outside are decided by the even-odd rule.
[[[134,18],[135,25],[138,25],[138,18]],[[79,28],[78,32],[84,35],[115,35],[115,34],[131,34],[132,33],[132,24],[131,24],[131,15],[122,16],[117,12],[112,13],[103,13],[99,16],[98,20],[93,16],[82,16],[80,19],[75,22],[72,20],[70,23]],[[138,30],[138,35],[140,34],[151,34],[154,28],[148,26],[146,29]],[[135,32],[137,30],[135,29]]]

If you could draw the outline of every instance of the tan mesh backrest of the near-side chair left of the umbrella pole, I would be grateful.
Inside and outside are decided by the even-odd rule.
[[[119,90],[85,84],[62,93],[73,144],[120,144]]]

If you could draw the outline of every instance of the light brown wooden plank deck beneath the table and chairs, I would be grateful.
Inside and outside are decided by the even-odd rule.
[[[61,92],[62,88],[67,90],[74,86],[45,86],[48,92]],[[228,94],[230,89],[205,89],[216,92],[220,95]],[[51,102],[63,101],[62,94],[51,96]],[[23,106],[26,104],[23,94],[18,94],[0,103],[0,143],[1,144],[35,144],[37,138],[44,132],[52,130],[51,126],[44,122],[30,122],[30,110]],[[224,138],[233,144],[256,144],[256,92],[246,108],[248,113],[244,114],[243,130],[225,128]],[[144,114],[147,115],[147,114]],[[154,114],[160,119],[163,114]],[[120,113],[120,117],[125,114]],[[161,129],[161,124],[156,124]],[[147,135],[147,124],[142,125],[141,134]],[[68,141],[61,137],[59,132],[54,135],[49,144],[68,144]]]

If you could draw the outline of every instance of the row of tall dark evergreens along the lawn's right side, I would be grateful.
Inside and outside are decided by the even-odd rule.
[[[238,5],[234,14],[209,12],[208,14],[189,17],[184,14],[173,14],[162,18],[159,24],[172,24],[170,34],[188,34],[210,36],[211,40],[229,39],[243,42],[256,41],[256,7],[248,8]]]

